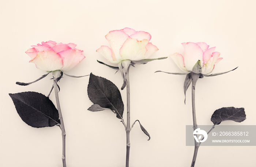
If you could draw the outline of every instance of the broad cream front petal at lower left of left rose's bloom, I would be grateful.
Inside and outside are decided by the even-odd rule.
[[[63,61],[59,54],[52,51],[41,51],[37,56],[30,60],[36,67],[44,71],[55,71],[63,67]]]

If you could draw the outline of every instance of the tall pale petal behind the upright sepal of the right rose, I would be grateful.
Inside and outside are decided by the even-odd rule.
[[[182,43],[184,53],[184,63],[187,70],[192,71],[194,65],[198,60],[201,60],[201,66],[203,67],[203,50],[199,45],[193,42]]]

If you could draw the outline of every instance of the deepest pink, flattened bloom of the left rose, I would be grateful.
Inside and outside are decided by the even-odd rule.
[[[32,45],[26,51],[35,63],[36,67],[44,71],[68,71],[74,68],[84,59],[82,50],[76,49],[76,44],[56,43],[54,41],[42,42],[42,44]]]

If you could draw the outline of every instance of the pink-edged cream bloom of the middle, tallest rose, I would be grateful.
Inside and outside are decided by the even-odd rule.
[[[151,35],[144,31],[135,31],[131,28],[110,31],[106,36],[108,46],[97,49],[111,63],[120,63],[123,60],[147,59],[158,48],[150,43]]]

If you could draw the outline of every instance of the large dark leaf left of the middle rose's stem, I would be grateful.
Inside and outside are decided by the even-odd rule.
[[[110,80],[91,73],[87,93],[91,102],[109,108],[117,118],[123,118],[124,103],[120,91]]]

